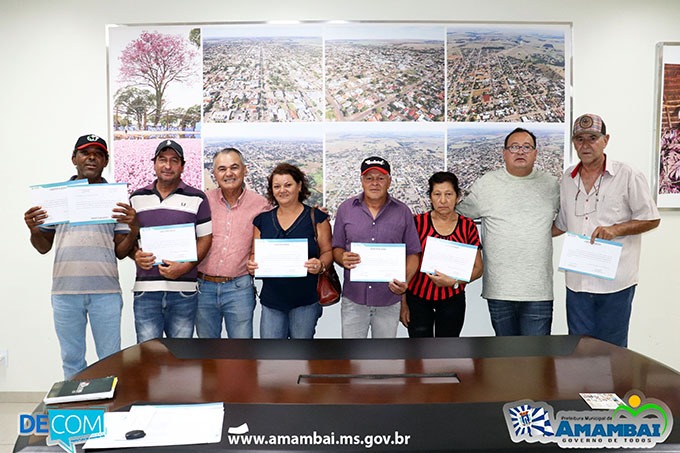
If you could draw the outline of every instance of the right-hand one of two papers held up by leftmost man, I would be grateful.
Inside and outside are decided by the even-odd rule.
[[[87,184],[69,187],[69,220],[73,224],[115,223],[116,203],[127,203],[127,183]]]

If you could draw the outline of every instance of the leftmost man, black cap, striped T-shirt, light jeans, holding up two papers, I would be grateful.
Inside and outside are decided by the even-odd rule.
[[[71,180],[106,183],[102,172],[109,163],[106,141],[94,134],[76,141]],[[54,326],[61,348],[64,377],[83,370],[85,331],[88,318],[100,359],[120,350],[120,318],[123,299],[118,281],[118,259],[134,247],[139,225],[135,210],[118,203],[112,217],[116,223],[44,225],[48,213],[33,206],[24,213],[31,231],[31,244],[41,254],[55,248],[52,274]]]

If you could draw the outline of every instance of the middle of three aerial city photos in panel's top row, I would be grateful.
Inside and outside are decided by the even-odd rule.
[[[412,26],[329,31],[326,119],[443,121],[443,31]]]

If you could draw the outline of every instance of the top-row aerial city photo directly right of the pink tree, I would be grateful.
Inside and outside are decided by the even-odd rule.
[[[322,51],[317,27],[205,27],[204,120],[321,121]]]

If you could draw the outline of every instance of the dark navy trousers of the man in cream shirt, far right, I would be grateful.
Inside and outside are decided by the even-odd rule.
[[[636,286],[608,294],[577,293],[567,288],[569,334],[590,335],[618,346],[628,346]]]

